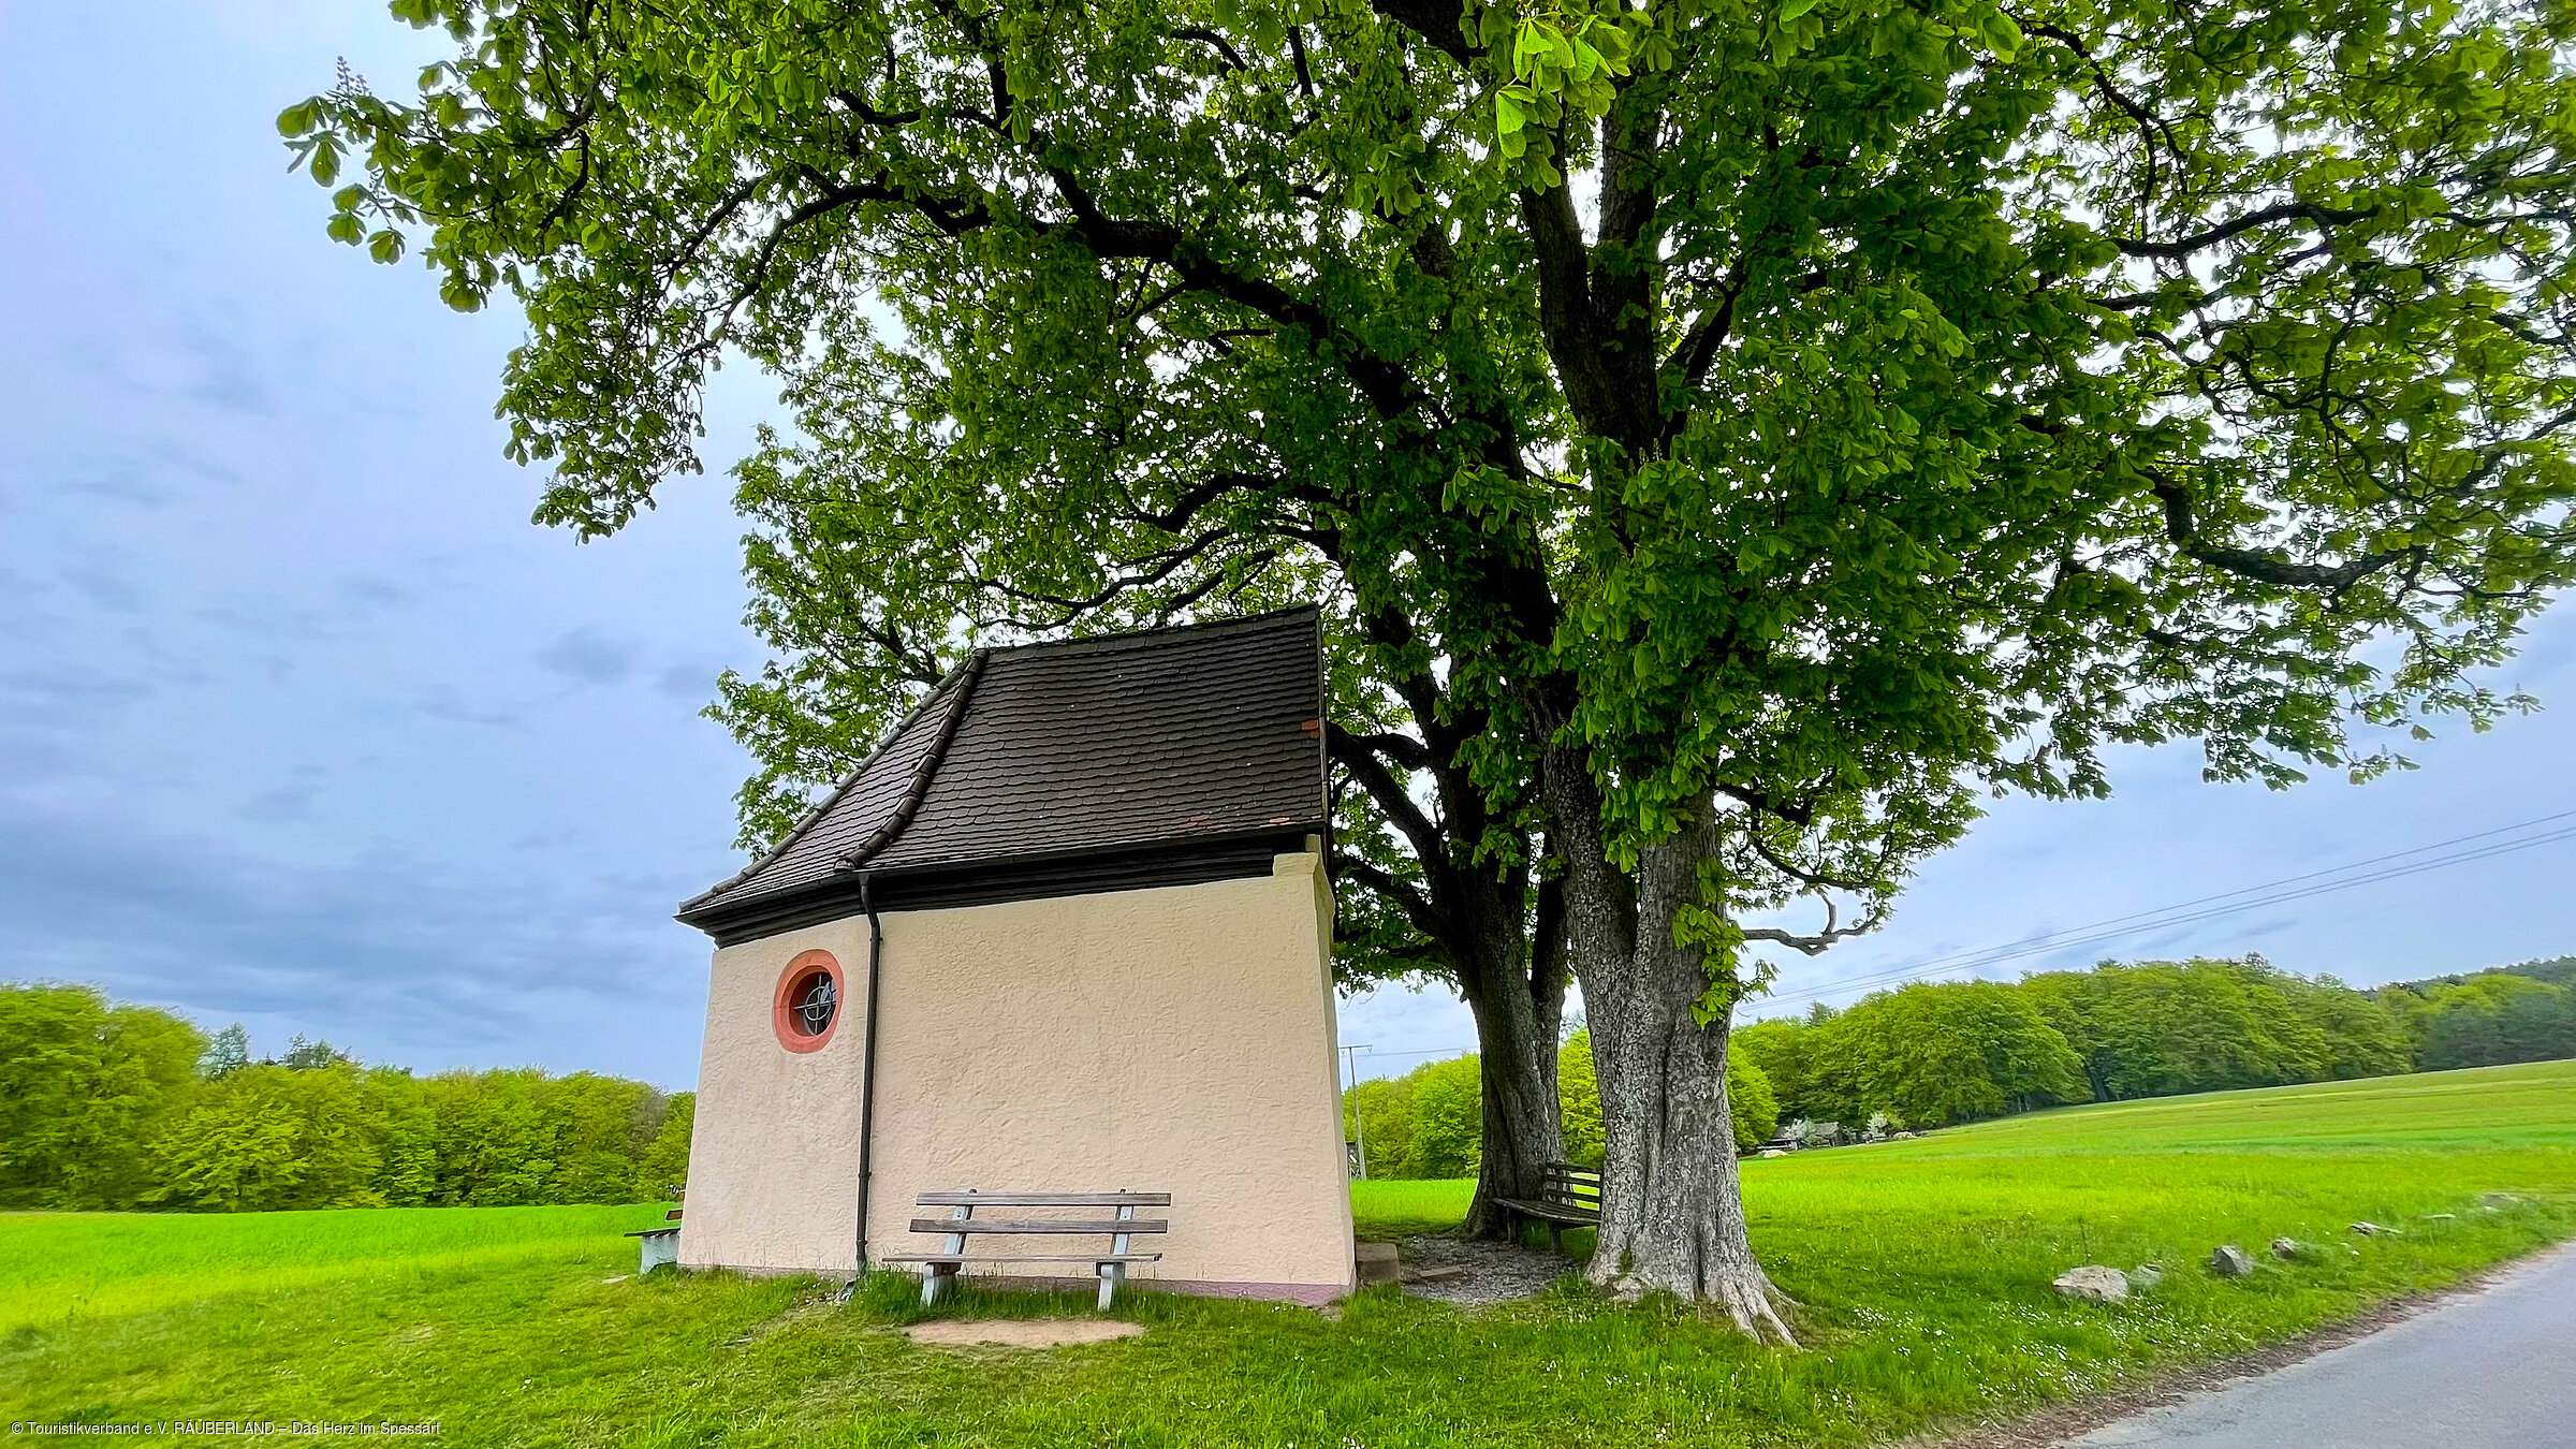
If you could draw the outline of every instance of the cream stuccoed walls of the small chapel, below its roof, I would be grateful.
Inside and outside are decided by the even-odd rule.
[[[884,913],[871,1256],[930,1250],[922,1191],[1170,1191],[1133,1281],[1319,1302],[1350,1289],[1350,1191],[1321,859],[1167,890]],[[770,1029],[778,977],[829,951],[819,1052]],[[683,1266],[855,1261],[868,920],[716,951]],[[1092,1240],[979,1238],[976,1250]],[[1012,1276],[1054,1263],[999,1269]],[[1079,1266],[1074,1274],[1084,1274]]]

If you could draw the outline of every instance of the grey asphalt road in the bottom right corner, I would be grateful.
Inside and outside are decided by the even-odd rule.
[[[2105,1423],[2081,1449],[2576,1449],[2576,1248],[2316,1359]]]

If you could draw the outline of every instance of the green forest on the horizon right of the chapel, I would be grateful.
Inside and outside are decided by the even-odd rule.
[[[1736,1142],[1780,1124],[1950,1127],[2040,1106],[2576,1057],[2576,957],[2354,990],[2262,957],[2102,962],[2020,982],[1924,982],[1803,1018],[1749,1021],[1728,1049]],[[1476,1057],[1342,1093],[1381,1178],[1458,1178],[1479,1158]],[[1584,1036],[1558,1055],[1566,1155],[1600,1160]]]

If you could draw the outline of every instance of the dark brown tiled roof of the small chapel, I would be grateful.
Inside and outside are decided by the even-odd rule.
[[[989,650],[698,918],[855,869],[907,871],[1324,830],[1314,608]]]

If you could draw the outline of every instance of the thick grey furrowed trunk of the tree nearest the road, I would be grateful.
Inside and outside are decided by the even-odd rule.
[[[1744,1232],[1736,1134],[1726,1106],[1726,1013],[1708,1026],[1700,949],[1674,946],[1674,915],[1698,900],[1703,828],[1643,851],[1636,879],[1610,866],[1589,776],[1553,758],[1548,802],[1566,838],[1574,975],[1602,1091],[1602,1225],[1587,1276],[1620,1297],[1672,1292],[1713,1302],[1754,1338],[1795,1343],[1788,1297]]]

